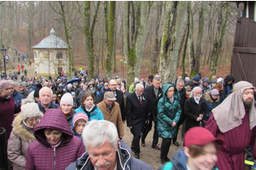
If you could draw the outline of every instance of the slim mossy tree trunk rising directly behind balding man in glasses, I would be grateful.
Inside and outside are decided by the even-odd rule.
[[[113,37],[114,37],[114,18],[115,18],[115,1],[109,5],[108,20],[108,39],[107,39],[107,59],[105,64],[105,78],[112,78],[112,56],[113,56]]]

